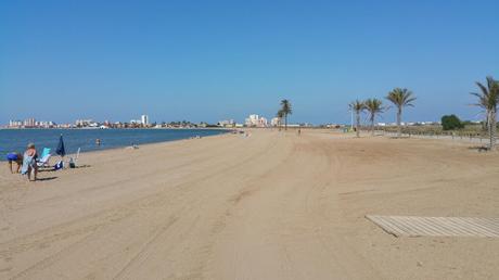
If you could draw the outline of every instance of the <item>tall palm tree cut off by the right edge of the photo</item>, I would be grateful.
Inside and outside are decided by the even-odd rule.
[[[497,103],[499,102],[499,81],[491,76],[487,77],[487,86],[476,81],[481,92],[471,94],[478,98],[478,103],[474,104],[483,107],[486,113],[486,124],[489,137],[489,149],[496,145],[496,123],[497,123]]]

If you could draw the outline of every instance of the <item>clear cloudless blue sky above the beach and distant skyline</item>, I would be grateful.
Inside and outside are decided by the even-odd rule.
[[[407,120],[470,106],[499,78],[499,1],[0,1],[0,123],[347,123],[355,99],[411,89]],[[382,122],[394,122],[395,112]]]

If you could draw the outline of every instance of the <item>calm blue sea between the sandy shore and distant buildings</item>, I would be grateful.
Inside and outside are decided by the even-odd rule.
[[[53,154],[61,133],[66,154],[74,154],[78,148],[88,152],[225,132],[227,130],[222,129],[0,129],[0,161],[5,161],[10,152],[23,153],[30,142],[35,143],[39,153],[43,148],[50,148]],[[101,145],[95,144],[95,139],[101,140]]]

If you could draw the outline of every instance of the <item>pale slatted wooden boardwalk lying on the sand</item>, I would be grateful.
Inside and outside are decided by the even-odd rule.
[[[395,237],[499,237],[499,218],[372,215],[366,218]]]

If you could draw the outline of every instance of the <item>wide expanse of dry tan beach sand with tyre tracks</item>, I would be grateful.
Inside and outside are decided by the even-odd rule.
[[[0,279],[492,279],[499,240],[395,238],[374,215],[499,217],[499,153],[255,130],[0,169]]]

